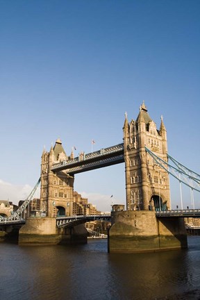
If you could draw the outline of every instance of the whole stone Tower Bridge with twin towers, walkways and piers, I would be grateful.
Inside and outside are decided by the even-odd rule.
[[[128,122],[125,115],[123,143],[92,153],[80,153],[74,158],[73,151],[67,156],[58,139],[50,151],[43,151],[40,180],[35,188],[41,181],[40,209],[46,217],[28,218],[19,232],[19,241],[26,244],[30,240],[47,242],[53,239],[58,243],[60,239],[66,241],[73,237],[72,240],[81,240],[86,237],[82,224],[92,217],[73,216],[75,175],[118,163],[125,165],[126,210],[111,212],[107,216],[112,224],[109,251],[140,252],[187,247],[183,217],[199,217],[200,211],[194,209],[194,198],[192,210],[184,210],[182,199],[181,210],[172,210],[169,174],[177,179],[178,185],[187,185],[191,194],[193,190],[200,191],[200,176],[169,156],[163,117],[158,129],[144,102],[136,120]],[[9,219],[0,217],[0,224],[22,220],[22,213],[32,197],[33,193]],[[60,211],[65,212],[65,216],[55,217]]]

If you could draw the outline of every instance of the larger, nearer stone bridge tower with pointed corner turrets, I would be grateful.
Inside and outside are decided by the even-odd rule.
[[[144,102],[134,121],[124,122],[127,210],[166,210],[171,207],[169,174],[145,151],[145,146],[167,161],[167,131],[161,117],[156,128]]]

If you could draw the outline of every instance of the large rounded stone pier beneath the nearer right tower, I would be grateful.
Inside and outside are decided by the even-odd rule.
[[[140,253],[187,248],[183,219],[157,219],[155,212],[124,210],[111,213],[108,252]]]

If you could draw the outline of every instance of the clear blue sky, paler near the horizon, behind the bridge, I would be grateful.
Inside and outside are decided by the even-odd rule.
[[[121,143],[143,100],[200,173],[199,15],[199,0],[0,0],[0,199],[25,199],[57,138],[77,156]],[[100,210],[125,203],[124,164],[76,175],[74,190]]]

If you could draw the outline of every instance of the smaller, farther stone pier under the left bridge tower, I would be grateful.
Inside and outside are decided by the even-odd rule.
[[[57,228],[56,218],[28,217],[19,230],[19,244],[83,244],[87,243],[87,231],[83,224],[73,228]]]

